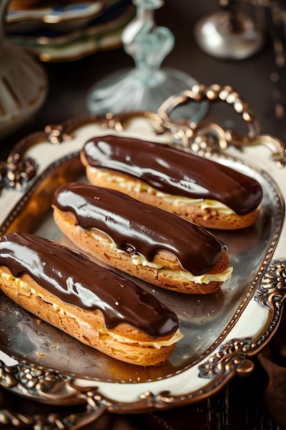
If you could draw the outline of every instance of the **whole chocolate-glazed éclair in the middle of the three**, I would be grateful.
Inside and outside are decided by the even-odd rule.
[[[226,245],[213,234],[126,194],[67,183],[52,206],[56,224],[82,251],[151,284],[205,294],[230,278]]]

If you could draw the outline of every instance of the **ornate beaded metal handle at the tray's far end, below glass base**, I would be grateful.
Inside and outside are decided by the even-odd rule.
[[[195,124],[191,120],[178,120],[173,122],[170,114],[180,104],[189,101],[201,102],[203,99],[209,102],[221,100],[233,106],[233,109],[241,115],[243,120],[248,124],[248,134],[239,135],[232,130],[224,130],[218,124]],[[241,95],[230,86],[221,86],[212,84],[195,84],[191,89],[184,90],[178,94],[171,95],[158,108],[160,117],[160,127],[173,133],[174,137],[185,148],[195,148],[198,142],[207,142],[212,149],[226,150],[229,146],[235,146],[242,149],[245,146],[264,145],[272,152],[271,159],[275,162],[277,168],[286,167],[286,145],[277,137],[272,135],[263,135],[260,132],[260,125],[257,117]],[[200,146],[200,145],[198,145]]]

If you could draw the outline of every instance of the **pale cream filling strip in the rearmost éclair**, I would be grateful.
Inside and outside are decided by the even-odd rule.
[[[115,182],[117,185],[119,185],[119,187],[124,188],[128,192],[147,192],[148,194],[155,194],[156,196],[160,197],[160,199],[163,199],[176,206],[191,205],[198,206],[201,210],[215,210],[220,214],[235,214],[235,212],[231,210],[230,207],[224,205],[224,203],[220,203],[219,201],[211,199],[190,199],[189,197],[184,196],[174,196],[173,194],[167,194],[155,190],[141,181],[135,181],[129,178],[127,179],[126,177],[121,177],[120,175],[117,175],[113,172],[110,174],[110,172],[106,170],[101,170],[94,167],[90,167],[90,169],[91,172],[96,174],[99,179],[102,178],[104,181],[108,181],[110,183]]]

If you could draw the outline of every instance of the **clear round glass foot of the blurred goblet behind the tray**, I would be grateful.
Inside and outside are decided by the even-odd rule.
[[[123,69],[99,81],[87,96],[88,111],[94,115],[152,111],[156,112],[169,96],[191,89],[198,81],[176,69]],[[200,122],[208,102],[180,106],[180,117]]]

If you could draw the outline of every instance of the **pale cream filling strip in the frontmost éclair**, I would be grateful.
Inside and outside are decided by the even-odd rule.
[[[17,286],[19,286],[19,288],[23,288],[23,289],[25,289],[25,291],[28,291],[31,295],[34,295],[35,297],[40,297],[41,299],[43,299],[43,295],[38,293],[38,291],[36,291],[35,288],[29,286],[29,284],[27,284],[27,282],[23,282],[20,278],[15,278],[10,273],[6,273],[2,270],[0,270],[0,273],[1,273],[1,277],[5,278],[5,280],[14,281],[15,284]],[[62,306],[59,306],[58,304],[54,304],[54,303],[51,303],[51,306],[53,306],[53,309],[56,310],[56,312],[60,313],[60,315],[69,315],[69,317],[77,319],[77,321],[80,322],[80,324],[82,326],[89,326],[89,324],[87,324],[82,319],[78,319],[78,317],[71,315],[71,313],[67,312],[67,310],[65,310]],[[142,342],[142,341],[136,341],[133,339],[128,339],[127,337],[123,337],[121,335],[117,335],[114,332],[110,332],[110,331],[106,330],[106,328],[104,328],[104,327],[97,327],[96,329],[99,332],[99,334],[108,336],[108,337],[110,337],[111,340],[117,341],[119,343],[132,343],[132,344],[137,344],[137,345],[145,346],[145,347],[151,346],[152,348],[156,348],[156,349],[160,349],[163,346],[171,346],[174,343],[177,343],[183,337],[180,330],[177,330],[176,333],[170,339],[168,339],[166,341]]]

